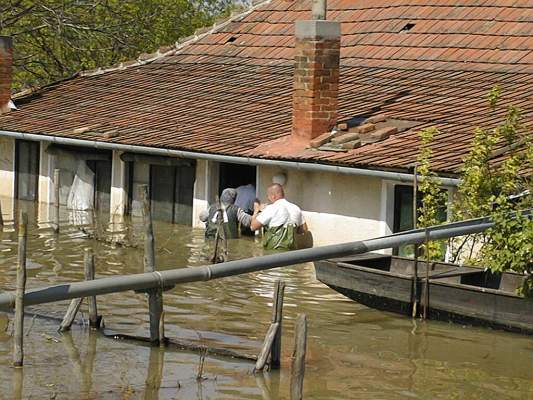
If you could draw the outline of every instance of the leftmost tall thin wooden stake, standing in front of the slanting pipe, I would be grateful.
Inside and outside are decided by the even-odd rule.
[[[26,242],[28,238],[28,216],[21,213],[18,233],[17,291],[15,294],[15,334],[13,365],[21,367],[24,363],[24,292],[26,290]]]

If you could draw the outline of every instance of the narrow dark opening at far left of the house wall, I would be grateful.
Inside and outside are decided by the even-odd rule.
[[[19,200],[37,201],[39,193],[39,142],[15,142],[15,197]]]

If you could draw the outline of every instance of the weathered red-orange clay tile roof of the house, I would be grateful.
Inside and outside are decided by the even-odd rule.
[[[293,25],[309,10],[273,0],[149,62],[20,97],[0,130],[276,158],[261,149],[291,131]],[[506,105],[521,107],[531,129],[531,0],[330,0],[328,19],[342,23],[341,121],[380,113],[414,127],[346,152],[282,158],[405,169],[416,132],[435,125],[434,165],[456,172],[473,128],[500,121]],[[495,84],[502,102],[490,112]]]

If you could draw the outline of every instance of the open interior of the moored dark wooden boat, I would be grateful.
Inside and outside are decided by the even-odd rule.
[[[411,258],[396,257],[384,254],[368,253],[356,257],[335,260],[341,267],[365,267],[396,275],[413,276],[414,261]],[[418,276],[424,279],[427,264],[424,260],[418,261]],[[516,293],[524,277],[515,273],[493,273],[479,267],[460,266],[444,262],[431,262],[429,264],[429,278],[433,283],[463,284],[487,289],[501,290]]]

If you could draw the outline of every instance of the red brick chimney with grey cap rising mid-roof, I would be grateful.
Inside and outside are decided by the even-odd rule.
[[[313,19],[296,21],[292,137],[310,141],[337,123],[340,23],[326,21],[326,0],[313,0]]]

